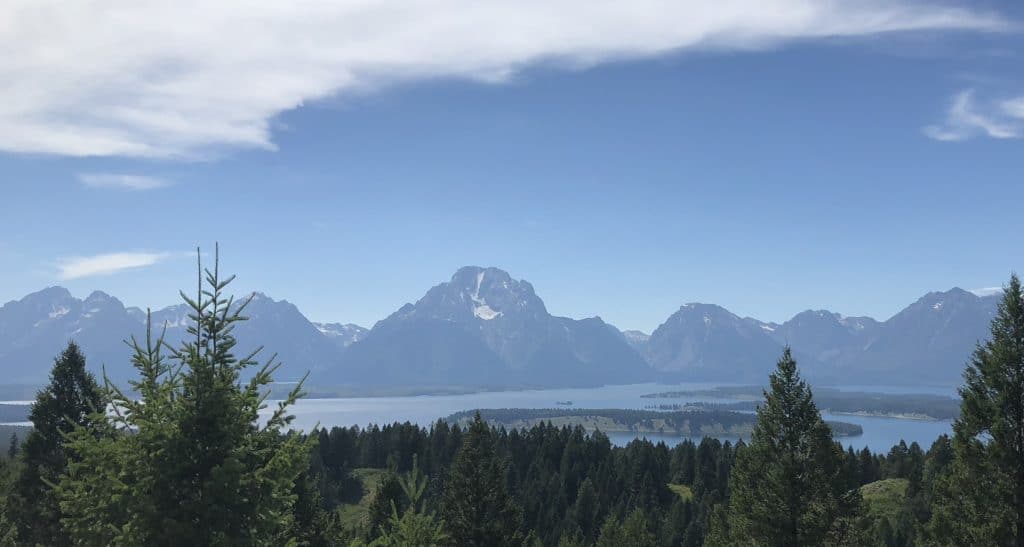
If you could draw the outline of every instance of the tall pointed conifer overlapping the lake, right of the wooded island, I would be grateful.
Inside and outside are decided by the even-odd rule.
[[[847,491],[843,451],[814,406],[811,389],[786,347],[751,443],[736,454],[729,478],[727,527],[711,534],[731,545],[837,545],[858,503]]]

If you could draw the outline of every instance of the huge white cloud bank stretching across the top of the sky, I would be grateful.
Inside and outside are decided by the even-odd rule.
[[[279,114],[393,82],[1009,27],[924,0],[6,0],[0,22],[0,150],[134,157],[272,149]]]

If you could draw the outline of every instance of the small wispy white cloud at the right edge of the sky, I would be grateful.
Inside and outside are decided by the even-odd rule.
[[[1017,109],[1020,112],[1017,112]],[[1006,100],[1000,107],[979,104],[971,89],[953,96],[941,124],[926,126],[923,131],[935,140],[958,141],[977,136],[991,138],[1018,138],[1022,134],[1024,120],[1024,97]]]

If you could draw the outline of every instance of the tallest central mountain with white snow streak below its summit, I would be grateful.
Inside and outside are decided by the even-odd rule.
[[[587,385],[649,376],[641,355],[599,318],[553,317],[529,283],[475,266],[377,323],[346,353],[344,373],[367,383],[450,385]]]

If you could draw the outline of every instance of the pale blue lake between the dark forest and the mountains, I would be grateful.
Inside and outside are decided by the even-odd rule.
[[[571,389],[535,389],[522,391],[488,391],[460,395],[413,395],[386,397],[346,397],[346,398],[308,398],[302,399],[292,408],[295,415],[293,425],[300,429],[310,429],[319,424],[324,427],[333,426],[367,426],[369,424],[383,425],[392,422],[413,422],[429,425],[438,418],[453,413],[473,409],[550,409],[557,407],[557,402],[571,401],[574,409],[643,409],[657,399],[642,398],[641,395],[658,391],[707,390],[720,386],[720,383],[684,383],[684,384],[633,384],[614,385],[594,388]],[[954,390],[937,388],[928,391],[906,387],[889,386],[829,386],[850,391],[874,391],[887,393],[934,392],[953,394]],[[729,403],[734,399],[692,396],[686,402],[692,403]],[[682,402],[682,399],[679,399]],[[854,449],[868,447],[873,452],[888,452],[900,439],[907,444],[916,441],[924,450],[932,445],[942,433],[951,433],[952,425],[948,420],[926,421],[899,418],[878,418],[867,416],[849,416],[824,414],[826,420],[859,424],[864,432],[858,436],[845,437],[844,445]],[[616,445],[625,445],[636,438],[632,433],[614,433],[608,435]],[[671,434],[646,433],[651,440],[664,440],[669,445],[679,443],[682,436]],[[723,437],[723,439],[726,437]],[[729,437],[735,440],[735,437]],[[699,438],[696,438],[699,440]]]

